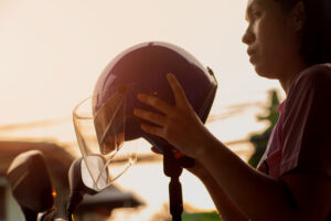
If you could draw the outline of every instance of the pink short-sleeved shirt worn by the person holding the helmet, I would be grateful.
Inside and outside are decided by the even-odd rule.
[[[279,178],[293,169],[331,177],[331,64],[293,81],[258,169]]]

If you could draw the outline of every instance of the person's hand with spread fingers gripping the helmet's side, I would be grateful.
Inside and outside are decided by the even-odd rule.
[[[142,124],[143,131],[167,139],[186,156],[199,158],[201,151],[204,151],[210,133],[190,105],[174,75],[167,74],[167,80],[173,92],[175,105],[169,105],[154,96],[138,94],[140,102],[154,107],[163,115],[138,108],[134,110],[134,114],[157,125]]]

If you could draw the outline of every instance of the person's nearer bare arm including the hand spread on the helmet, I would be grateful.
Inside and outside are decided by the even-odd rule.
[[[301,191],[298,198],[295,194],[298,186],[287,180],[270,178],[245,164],[204,127],[175,77],[171,74],[167,77],[175,97],[174,106],[153,96],[138,96],[142,103],[163,113],[160,115],[136,109],[135,114],[138,117],[158,125],[143,124],[141,128],[145,131],[167,139],[186,156],[199,159],[238,209],[254,221],[301,221],[307,217],[318,217],[319,211],[306,210],[303,208],[308,206],[302,206],[310,203],[308,190],[316,192],[314,189],[308,188],[307,191]],[[310,186],[311,181],[308,181]],[[320,188],[319,182],[321,180],[311,188]],[[324,188],[322,192],[329,193],[330,179],[323,182],[327,185],[321,186]],[[323,196],[319,194],[314,200],[318,203],[322,198]],[[329,206],[330,202],[327,204]]]

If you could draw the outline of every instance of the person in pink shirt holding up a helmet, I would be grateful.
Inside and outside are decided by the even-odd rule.
[[[243,42],[256,73],[287,94],[258,169],[249,167],[200,122],[172,74],[175,105],[139,94],[163,113],[135,109],[196,159],[191,169],[224,220],[331,220],[331,1],[248,0]]]

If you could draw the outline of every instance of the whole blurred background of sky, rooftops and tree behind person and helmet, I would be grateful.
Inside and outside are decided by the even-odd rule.
[[[277,94],[280,101],[284,94],[278,82],[257,76],[249,64],[241,41],[247,27],[246,3],[0,0],[0,220],[23,219],[4,173],[12,158],[29,149],[44,152],[58,207],[66,200],[67,169],[79,157],[72,110],[92,94],[114,56],[141,42],[177,44],[214,71],[218,91],[206,126],[248,161],[259,148],[259,135],[265,140],[273,125]],[[143,141],[138,151],[136,166],[109,194],[86,199],[77,219],[169,220],[169,179],[162,157]],[[197,179],[184,171],[181,182],[186,220],[215,215]]]

